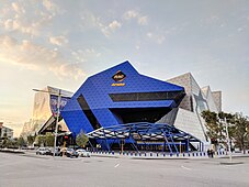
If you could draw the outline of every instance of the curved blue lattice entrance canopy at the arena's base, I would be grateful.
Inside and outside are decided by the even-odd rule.
[[[170,153],[179,153],[179,148],[181,152],[181,145],[184,145],[184,151],[189,152],[190,147],[194,148],[193,142],[199,144],[195,150],[202,146],[202,142],[195,136],[166,123],[138,122],[112,125],[92,131],[88,133],[88,136],[90,140],[104,143],[109,151],[114,142],[122,146],[123,141],[129,142],[136,151],[138,151],[137,145],[149,146],[152,144],[161,144],[161,151],[166,151],[168,147]]]

